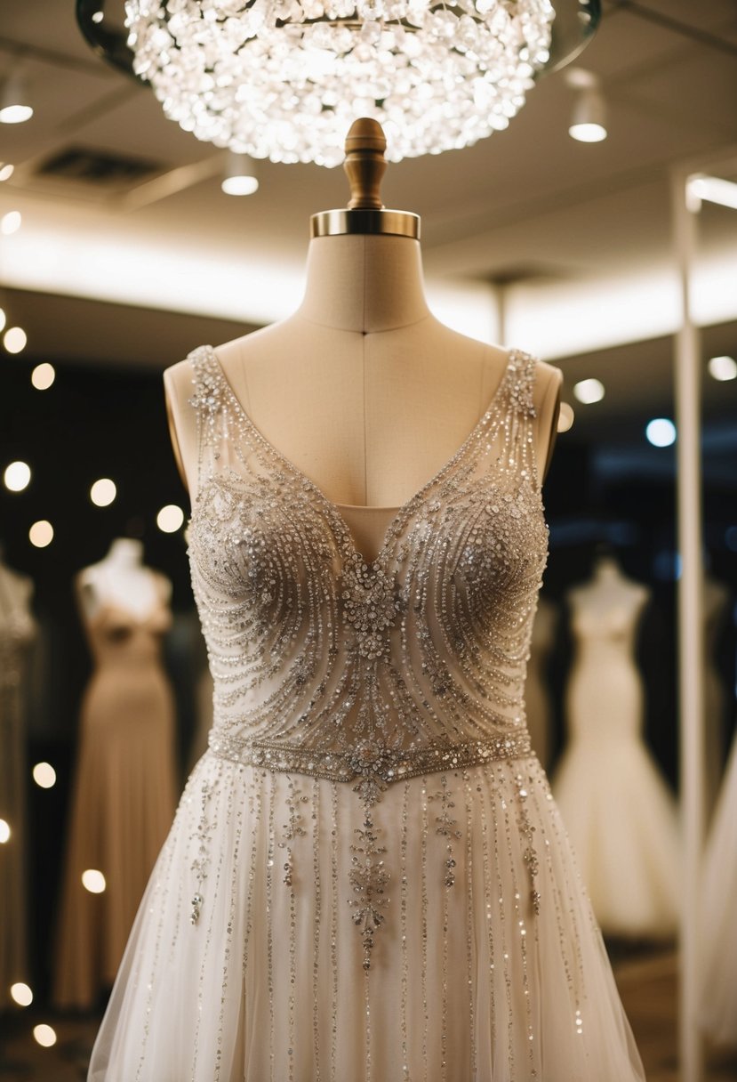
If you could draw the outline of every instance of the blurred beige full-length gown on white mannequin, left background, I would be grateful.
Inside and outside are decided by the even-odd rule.
[[[161,663],[171,584],[120,539],[80,572],[80,608],[95,662],[80,717],[54,1000],[85,1008],[109,988],[176,801],[174,704]],[[82,873],[99,871],[91,893]]]

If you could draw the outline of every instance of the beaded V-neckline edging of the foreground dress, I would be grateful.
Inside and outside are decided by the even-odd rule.
[[[307,487],[307,489],[314,496],[317,501],[327,512],[329,517],[331,518],[333,524],[338,527],[337,535],[341,543],[340,546],[343,549],[344,562],[354,563],[356,560],[359,560],[364,567],[373,570],[378,570],[383,566],[384,562],[387,558],[387,554],[394,541],[394,538],[404,526],[404,522],[407,515],[415,509],[415,506],[418,503],[421,503],[426,494],[430,491],[431,488],[433,488],[438,484],[441,477],[443,477],[448,471],[451,471],[456,465],[458,460],[468,450],[475,436],[482,431],[484,425],[487,423],[492,411],[496,407],[499,398],[501,397],[502,392],[506,388],[506,385],[510,378],[510,373],[514,367],[514,361],[520,356],[519,349],[508,351],[507,364],[505,366],[504,372],[501,373],[501,379],[499,380],[497,386],[495,387],[494,394],[492,395],[488,406],[486,407],[482,415],[479,418],[477,423],[469,432],[468,436],[466,436],[463,444],[460,444],[460,446],[452,454],[452,457],[447,459],[447,461],[430,477],[429,480],[427,480],[421,486],[421,488],[418,488],[416,492],[414,492],[407,500],[404,501],[404,503],[400,504],[400,506],[396,510],[394,514],[392,515],[385,530],[380,549],[376,553],[376,556],[374,557],[373,560],[367,560],[364,557],[363,553],[359,552],[356,545],[356,541],[353,539],[353,535],[350,530],[350,527],[346,522],[343,512],[340,511],[340,504],[331,500],[330,497],[327,497],[325,492],[323,492],[320,486],[316,484],[316,481],[313,481],[312,478],[309,477],[304,472],[304,470],[300,470],[299,466],[296,465],[294,462],[292,462],[292,460],[289,459],[282,451],[280,451],[279,448],[276,447],[270,439],[267,439],[267,437],[264,435],[260,428],[251,419],[245,408],[243,407],[240,398],[233,391],[232,384],[230,383],[228,377],[225,374],[225,369],[223,367],[223,364],[220,362],[220,358],[217,356],[215,347],[212,345],[207,345],[205,346],[205,349],[210,353],[211,357],[215,361],[215,365],[217,366],[217,371],[219,374],[219,379],[223,383],[224,391],[228,399],[230,400],[230,405],[234,409],[236,414],[240,418],[245,427],[251,433],[253,433],[254,437],[258,440],[258,443],[263,445],[266,451],[269,454],[271,454],[272,458],[274,458],[277,462],[279,462],[283,466],[283,469],[285,469],[298,481],[300,481],[302,485]],[[374,510],[372,504],[354,504],[354,506],[365,506]],[[378,509],[378,510],[385,510],[385,509]],[[393,510],[393,509],[386,509],[386,510]]]

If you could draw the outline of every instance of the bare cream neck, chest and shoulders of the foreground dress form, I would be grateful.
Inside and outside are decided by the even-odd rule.
[[[357,136],[365,146],[375,137],[374,122],[359,124],[368,126],[368,136],[363,129]],[[217,348],[245,412],[331,502],[347,506],[365,556],[364,547],[379,547],[392,512],[463,444],[507,364],[500,347],[465,338],[432,316],[418,221],[380,206],[375,194],[359,192],[348,211],[314,215],[299,308]],[[172,440],[195,501],[191,379],[189,361],[164,373]],[[538,364],[540,475],[552,451],[561,379],[558,369]]]

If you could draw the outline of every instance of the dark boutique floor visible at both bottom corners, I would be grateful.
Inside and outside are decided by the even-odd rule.
[[[678,959],[672,951],[633,950],[609,945],[617,985],[634,1030],[647,1082],[680,1082],[676,1063]],[[17,1012],[0,1020],[0,1082],[82,1082],[97,1016],[54,1017]],[[51,1048],[32,1037],[36,1025],[51,1025]],[[710,1052],[705,1082],[737,1082],[737,1051]],[[463,1082],[463,1080],[458,1080]],[[594,1082],[594,1080],[591,1080]]]

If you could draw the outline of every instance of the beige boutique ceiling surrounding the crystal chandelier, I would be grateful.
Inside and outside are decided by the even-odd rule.
[[[605,142],[568,137],[573,96],[558,72],[540,79],[507,131],[465,150],[389,168],[385,202],[421,215],[430,283],[491,282],[501,290],[510,283],[553,282],[575,291],[587,279],[647,276],[669,265],[672,167],[706,161],[731,147],[735,154],[737,146],[737,5],[733,0],[609,0],[597,37],[577,63],[601,80],[608,108]],[[258,268],[272,275],[269,281],[283,276],[281,301],[293,304],[310,214],[345,204],[341,170],[259,162],[255,196],[223,195],[223,153],[166,120],[148,89],[98,58],[81,37],[70,0],[3,0],[0,77],[17,65],[36,113],[26,124],[0,130],[0,160],[15,166],[12,179],[0,185],[0,212],[17,207],[24,227],[36,223],[40,237],[52,226],[68,229],[70,238],[122,237],[134,250],[156,248],[204,268],[198,272],[201,289],[189,283],[186,305],[159,294],[156,283],[147,295],[133,299],[142,308],[186,307],[193,322],[171,311],[151,311],[136,320],[120,303],[110,304],[121,298],[102,287],[75,287],[71,275],[65,285],[63,262],[42,286],[9,294],[30,320],[29,332],[36,329],[36,352],[51,349],[64,325],[57,341],[64,337],[66,354],[78,359],[118,362],[128,355],[163,367],[182,355],[190,329],[212,329],[216,338],[273,318],[267,304],[245,304],[249,294],[256,296],[249,275]],[[136,188],[138,182],[105,185],[40,174],[44,162],[70,148],[144,160],[152,166],[148,176],[163,181]],[[155,198],[164,188],[172,194]],[[737,213],[710,210],[700,223],[699,243],[705,252],[737,252]],[[73,243],[67,251],[71,260]],[[5,243],[3,251],[0,243],[0,275],[17,288],[23,282],[12,256],[12,247]],[[207,294],[206,267],[230,262],[242,267],[233,291],[243,306],[236,296],[226,311]],[[274,292],[280,289],[270,288]],[[65,306],[68,293],[81,296]],[[714,337],[725,348],[729,343],[737,348],[734,326],[721,322],[728,326]],[[95,325],[99,332],[86,334]],[[657,356],[654,370],[667,371],[668,340],[656,339],[655,332],[649,337],[648,356]],[[599,343],[602,356],[606,345]],[[571,362],[572,372],[577,367]],[[613,368],[622,385],[642,374],[626,356],[616,366],[609,358]]]

